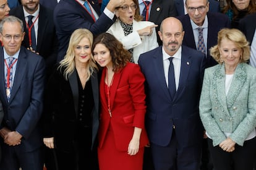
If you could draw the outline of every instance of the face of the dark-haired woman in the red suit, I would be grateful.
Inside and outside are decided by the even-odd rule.
[[[93,49],[93,57],[101,67],[112,67],[113,65],[110,51],[103,44],[99,43],[95,45],[95,48]]]

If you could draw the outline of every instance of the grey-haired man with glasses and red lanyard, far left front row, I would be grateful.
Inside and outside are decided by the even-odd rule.
[[[41,170],[43,140],[38,121],[43,109],[45,61],[21,46],[25,36],[22,20],[6,17],[0,23],[0,33],[0,100],[4,109],[0,169]]]

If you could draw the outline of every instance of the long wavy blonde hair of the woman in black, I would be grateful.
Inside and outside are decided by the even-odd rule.
[[[92,48],[93,34],[89,30],[87,30],[85,28],[79,28],[79,29],[75,30],[72,33],[72,35],[70,36],[67,53],[66,53],[64,59],[62,59],[62,61],[60,62],[60,65],[58,67],[58,69],[64,68],[64,77],[66,80],[68,80],[69,75],[72,74],[72,72],[74,72],[74,70],[75,70],[75,61],[74,61],[75,51],[74,51],[74,49],[83,38],[88,38],[88,40],[90,41],[90,48]],[[87,80],[90,79],[90,76],[93,74],[94,71],[98,70],[98,67],[95,64],[92,54],[88,61],[88,66],[89,67],[88,67]]]

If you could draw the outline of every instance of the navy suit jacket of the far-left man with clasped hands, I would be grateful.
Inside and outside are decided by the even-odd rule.
[[[45,61],[43,57],[21,46],[9,103],[4,82],[2,48],[0,48],[0,66],[0,100],[4,109],[1,127],[16,130],[23,136],[20,145],[16,146],[21,152],[33,151],[43,144],[38,121],[43,111]]]

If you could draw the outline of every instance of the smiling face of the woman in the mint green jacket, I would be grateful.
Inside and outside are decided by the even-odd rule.
[[[226,69],[236,68],[237,64],[241,62],[242,49],[238,48],[233,41],[224,38],[221,40],[219,50]]]

